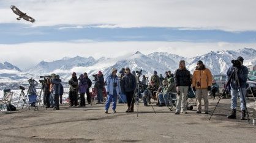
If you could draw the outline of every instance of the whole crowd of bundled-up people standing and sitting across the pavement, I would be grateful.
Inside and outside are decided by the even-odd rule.
[[[228,78],[232,80],[230,83],[232,94],[232,114],[228,116],[230,119],[236,118],[236,106],[237,96],[239,94],[241,100],[241,119],[245,119],[246,110],[244,105],[244,96],[246,94],[246,80],[248,69],[243,66],[243,57],[238,57],[238,63],[230,67],[227,71]],[[238,71],[239,86],[232,75],[232,71],[236,69]],[[136,75],[137,73],[137,75]],[[142,76],[140,81],[140,72],[131,72],[130,68],[122,68],[118,72],[118,69],[112,68],[111,74],[104,80],[104,75],[99,71],[94,77],[94,89],[97,93],[97,104],[105,104],[105,113],[108,113],[111,102],[113,102],[112,110],[116,113],[117,99],[125,95],[127,102],[127,113],[134,112],[135,94],[143,99],[144,106],[151,104],[151,99],[156,100],[158,106],[170,106],[170,96],[176,97],[176,111],[175,114],[187,114],[186,112],[186,100],[187,94],[190,91],[195,93],[197,99],[197,111],[196,113],[202,113],[201,100],[204,101],[204,112],[209,113],[209,101],[208,92],[211,92],[213,98],[216,97],[216,92],[219,92],[219,86],[213,79],[211,71],[206,68],[203,61],[199,60],[193,74],[186,68],[186,62],[184,60],[179,61],[179,68],[174,73],[171,71],[165,72],[165,77],[162,74],[157,75],[157,71],[149,77]],[[237,77],[236,77],[237,78]],[[235,81],[235,82],[234,82]],[[69,106],[83,107],[86,105],[85,94],[87,102],[91,103],[91,94],[89,88],[92,86],[92,82],[87,73],[79,75],[75,72],[72,73],[72,77],[69,80]],[[34,85],[38,83],[34,83]],[[104,89],[107,92],[107,101],[104,103],[103,93]],[[30,90],[34,92],[34,89]],[[44,103],[47,108],[53,108],[59,110],[59,103],[62,103],[63,86],[59,75],[52,74],[46,79],[43,85]],[[80,94],[80,103],[78,103],[78,94]],[[176,95],[176,96],[173,96]],[[60,99],[60,100],[59,100]]]

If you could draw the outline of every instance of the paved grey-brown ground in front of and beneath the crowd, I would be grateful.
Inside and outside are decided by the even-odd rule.
[[[213,111],[217,99],[209,99]],[[104,105],[86,108],[62,105],[61,110],[13,111],[0,114],[0,142],[255,142],[256,126],[247,120],[227,119],[230,99],[220,100],[214,116],[175,115],[167,107],[139,105],[137,113],[105,114]],[[250,118],[255,110],[250,109]],[[250,120],[252,122],[252,120]]]

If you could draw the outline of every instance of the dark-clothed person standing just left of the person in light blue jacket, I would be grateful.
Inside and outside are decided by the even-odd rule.
[[[94,87],[97,89],[97,99],[98,102],[96,104],[104,103],[103,101],[103,86],[104,86],[104,77],[101,71],[98,72],[97,74],[97,80],[94,85]]]

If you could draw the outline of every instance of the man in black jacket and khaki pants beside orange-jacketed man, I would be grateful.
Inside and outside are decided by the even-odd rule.
[[[178,95],[175,114],[180,112],[186,114],[187,91],[191,85],[191,78],[190,71],[187,70],[184,60],[179,61],[179,68],[176,69],[173,78]]]

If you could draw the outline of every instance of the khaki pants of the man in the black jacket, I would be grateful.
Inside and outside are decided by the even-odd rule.
[[[176,112],[186,111],[186,100],[187,100],[187,91],[189,90],[189,86],[178,86],[180,94],[177,94],[177,105]]]

